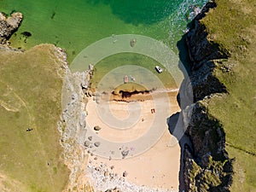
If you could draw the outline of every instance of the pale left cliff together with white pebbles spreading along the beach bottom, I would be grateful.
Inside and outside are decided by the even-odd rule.
[[[67,67],[67,61],[65,61],[65,52],[58,49],[57,55],[60,55],[59,58],[62,62],[66,62],[66,76],[62,92],[63,112],[58,125],[61,133],[61,146],[64,149],[64,160],[71,170],[65,191],[75,187],[79,191],[174,192],[174,190],[151,189],[130,183],[124,175],[115,173],[114,168],[105,164],[95,166],[90,162],[89,156],[94,156],[93,151],[97,146],[96,143],[90,142],[93,138],[86,134],[86,104],[90,94],[85,94],[88,92],[84,92],[83,87],[89,85],[90,71],[71,73]],[[88,189],[86,186],[92,186],[93,189]]]

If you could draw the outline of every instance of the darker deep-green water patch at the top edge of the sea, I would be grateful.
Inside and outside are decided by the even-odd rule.
[[[178,1],[167,0],[87,0],[88,3],[105,3],[113,15],[133,25],[153,24],[164,20],[177,9]]]

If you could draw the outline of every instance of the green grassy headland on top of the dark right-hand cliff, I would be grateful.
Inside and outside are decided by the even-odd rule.
[[[215,74],[229,94],[213,97],[209,113],[219,119],[226,133],[227,151],[235,158],[231,191],[256,189],[256,3],[252,0],[216,0],[201,22],[208,38],[230,50]],[[224,62],[226,67],[221,64]]]

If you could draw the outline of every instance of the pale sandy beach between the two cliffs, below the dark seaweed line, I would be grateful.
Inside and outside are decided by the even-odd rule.
[[[166,125],[166,119],[179,111],[176,96],[173,95],[176,94],[172,92],[170,96],[155,92],[146,100],[139,96],[139,102],[107,99],[99,102],[93,97],[88,98],[88,167],[101,174],[97,177],[101,180],[98,182],[93,173],[88,172],[95,189],[104,190],[107,185],[109,188],[111,178],[119,178],[152,191],[178,190],[180,147],[178,143],[172,144],[176,138],[172,137]],[[95,126],[101,127],[101,130],[95,131]],[[100,146],[93,146],[93,143]],[[124,152],[127,154],[124,155]],[[117,186],[113,187],[120,187],[115,184]]]

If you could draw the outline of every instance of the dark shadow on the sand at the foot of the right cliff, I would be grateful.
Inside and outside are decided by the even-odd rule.
[[[179,180],[179,192],[183,192],[185,190],[184,178],[183,178],[183,166],[184,166],[183,151],[184,151],[185,145],[191,146],[191,143],[190,143],[189,137],[184,135],[184,129],[183,129],[184,125],[183,125],[183,118],[181,113],[172,114],[172,116],[167,119],[167,125],[172,136],[177,138],[177,142],[181,148],[178,180]]]

